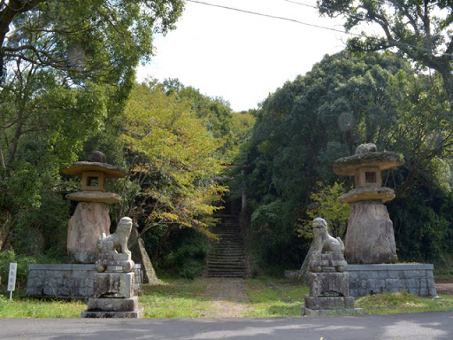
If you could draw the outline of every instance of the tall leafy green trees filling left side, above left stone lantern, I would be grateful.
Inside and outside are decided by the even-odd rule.
[[[56,174],[83,143],[120,126],[134,67],[182,8],[180,0],[0,1],[0,250],[20,220],[22,229],[42,224],[24,216],[36,215],[50,189],[62,197]]]

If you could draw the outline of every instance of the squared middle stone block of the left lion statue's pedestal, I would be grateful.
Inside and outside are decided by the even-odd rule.
[[[134,297],[134,273],[96,273],[93,298]]]

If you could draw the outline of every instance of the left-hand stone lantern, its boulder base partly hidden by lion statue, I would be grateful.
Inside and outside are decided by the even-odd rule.
[[[89,161],[75,162],[61,172],[81,177],[82,191],[66,195],[79,202],[69,220],[68,255],[73,263],[95,263],[99,236],[110,235],[109,205],[120,200],[118,194],[106,191],[107,179],[125,177],[126,171],[107,164],[104,154],[93,151]]]

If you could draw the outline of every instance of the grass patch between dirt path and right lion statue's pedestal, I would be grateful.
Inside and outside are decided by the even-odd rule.
[[[250,310],[244,316],[300,316],[309,289],[296,280],[263,278],[246,280]]]

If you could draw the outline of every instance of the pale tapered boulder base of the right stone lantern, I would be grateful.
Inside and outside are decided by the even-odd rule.
[[[345,244],[348,263],[395,262],[395,235],[387,207],[380,201],[352,203]]]

